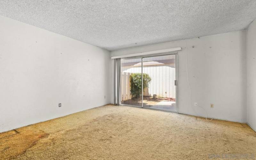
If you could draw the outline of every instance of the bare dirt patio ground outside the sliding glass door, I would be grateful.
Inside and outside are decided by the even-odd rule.
[[[157,103],[159,103],[161,101],[173,101],[173,102],[175,102],[175,98],[156,97],[156,99],[153,99],[153,97],[143,96],[143,106],[144,107],[154,106],[154,105],[156,105]],[[141,97],[140,98],[133,97],[130,100],[121,101],[121,104],[141,106]]]

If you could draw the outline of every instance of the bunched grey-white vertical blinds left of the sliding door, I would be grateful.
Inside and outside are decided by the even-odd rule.
[[[121,58],[114,59],[114,104],[120,105]]]

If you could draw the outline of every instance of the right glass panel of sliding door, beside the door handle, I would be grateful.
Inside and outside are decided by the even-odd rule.
[[[143,83],[143,108],[177,112],[176,106],[176,54],[144,57],[143,77],[149,77],[148,84]]]

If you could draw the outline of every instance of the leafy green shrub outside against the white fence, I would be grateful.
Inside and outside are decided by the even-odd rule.
[[[151,78],[148,74],[143,73],[143,92],[145,88],[148,87]],[[141,73],[132,73],[130,75],[130,82],[131,82],[131,94],[133,97],[140,97],[141,96]]]

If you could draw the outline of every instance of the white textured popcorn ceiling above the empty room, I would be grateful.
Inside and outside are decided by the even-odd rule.
[[[245,29],[256,0],[1,0],[0,15],[112,51]]]

